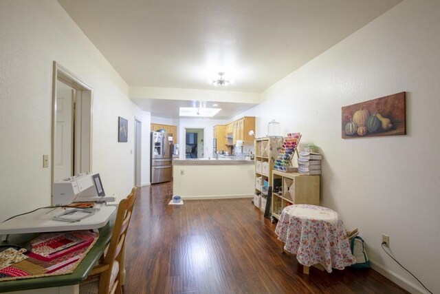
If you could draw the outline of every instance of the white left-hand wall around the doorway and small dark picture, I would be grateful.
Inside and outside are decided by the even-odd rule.
[[[52,62],[94,89],[92,169],[108,195],[134,183],[134,128],[118,143],[118,116],[142,112],[129,87],[54,0],[0,2],[0,219],[51,203]]]

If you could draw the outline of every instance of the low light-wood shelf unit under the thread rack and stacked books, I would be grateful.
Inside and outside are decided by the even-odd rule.
[[[319,205],[320,176],[272,171],[272,216],[280,219],[281,211],[290,204]],[[281,186],[281,195],[275,193]]]

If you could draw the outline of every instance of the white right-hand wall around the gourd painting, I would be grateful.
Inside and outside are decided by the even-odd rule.
[[[404,1],[263,92],[256,136],[276,118],[322,148],[321,204],[358,227],[375,269],[440,293],[440,2]],[[406,91],[406,136],[341,138],[341,107]],[[421,288],[421,286],[420,286]],[[412,291],[415,291],[412,289]]]

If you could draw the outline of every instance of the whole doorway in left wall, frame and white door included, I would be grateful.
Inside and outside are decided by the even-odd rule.
[[[54,61],[52,183],[91,171],[91,113],[91,87]]]

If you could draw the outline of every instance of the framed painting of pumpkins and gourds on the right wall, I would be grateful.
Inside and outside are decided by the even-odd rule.
[[[406,134],[405,92],[342,107],[342,138]]]

